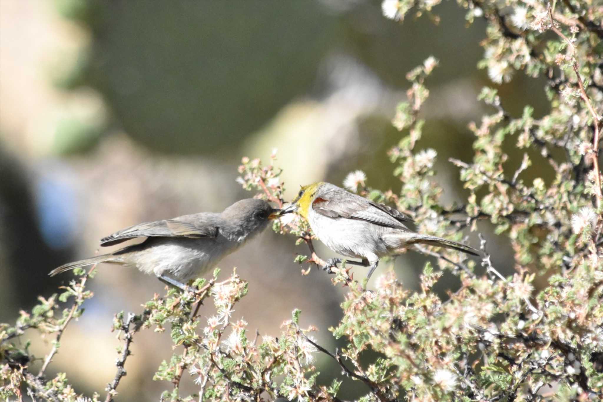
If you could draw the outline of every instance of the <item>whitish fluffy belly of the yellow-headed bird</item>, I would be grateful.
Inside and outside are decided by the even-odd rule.
[[[381,238],[383,227],[359,219],[329,218],[308,211],[310,226],[321,242],[335,253],[346,257],[379,260],[388,254],[387,246]]]

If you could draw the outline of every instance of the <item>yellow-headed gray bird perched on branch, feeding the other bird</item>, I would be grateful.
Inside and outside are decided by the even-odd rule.
[[[330,183],[312,183],[301,187],[291,206],[281,215],[296,212],[308,219],[314,234],[335,253],[361,259],[347,261],[360,266],[370,266],[367,279],[379,265],[379,259],[397,254],[413,244],[426,244],[452,248],[478,256],[478,251],[464,244],[415,233],[406,227],[412,219],[384,204],[374,203],[359,195]],[[330,259],[327,270],[342,259]]]

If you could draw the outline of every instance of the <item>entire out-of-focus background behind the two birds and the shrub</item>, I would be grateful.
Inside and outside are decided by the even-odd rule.
[[[462,202],[447,159],[472,157],[467,124],[492,113],[476,101],[482,86],[494,86],[476,68],[485,22],[467,28],[452,1],[434,12],[438,25],[427,16],[402,25],[385,19],[377,1],[1,1],[0,321],[68,283],[70,274],[46,274],[92,255],[100,237],[250,196],[235,182],[244,155],[267,160],[277,148],[289,196],[311,181],[341,185],[355,169],[368,185],[398,192],[386,152],[402,133],[391,119],[406,98],[406,72],[429,55],[440,66],[426,83],[428,122],[417,149],[438,151],[442,203]],[[531,104],[538,117],[544,84],[519,74],[497,88],[505,109],[520,115]],[[519,166],[522,155],[509,152]],[[505,239],[490,244],[510,272]],[[317,325],[318,341],[333,350],[327,328],[339,319],[344,290],[323,272],[302,276],[293,259],[305,251],[267,231],[220,266],[250,280],[236,312],[250,327],[276,336],[299,307],[301,324]],[[425,260],[396,259],[406,286],[417,285]],[[99,271],[95,297],[51,366],[68,372],[78,392],[102,391],[115,373],[113,314],[139,312],[163,289],[139,272]],[[456,285],[446,281],[443,295],[446,286]],[[43,356],[49,347],[33,348]],[[151,380],[171,356],[169,336],[138,334],[133,351],[119,400],[157,400],[171,389]],[[322,356],[317,364],[324,382],[339,374]],[[190,379],[186,387],[194,392]],[[361,391],[346,382],[338,396]]]

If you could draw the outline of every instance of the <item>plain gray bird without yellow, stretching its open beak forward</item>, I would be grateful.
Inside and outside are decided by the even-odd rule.
[[[50,276],[69,269],[96,263],[134,266],[145,274],[185,289],[189,279],[202,275],[233,253],[279,216],[262,199],[242,199],[222,213],[201,212],[164,221],[134,225],[101,239],[101,246],[112,246],[136,237],[147,237],[139,244],[85,260],[62,265]]]

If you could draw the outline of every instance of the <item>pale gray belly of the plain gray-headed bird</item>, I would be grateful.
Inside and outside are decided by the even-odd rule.
[[[224,237],[216,239],[185,239],[151,237],[140,245],[133,246],[124,254],[128,265],[157,276],[167,274],[180,281],[197,278],[215,268],[223,257],[239,247]],[[130,250],[128,250],[130,251]]]

